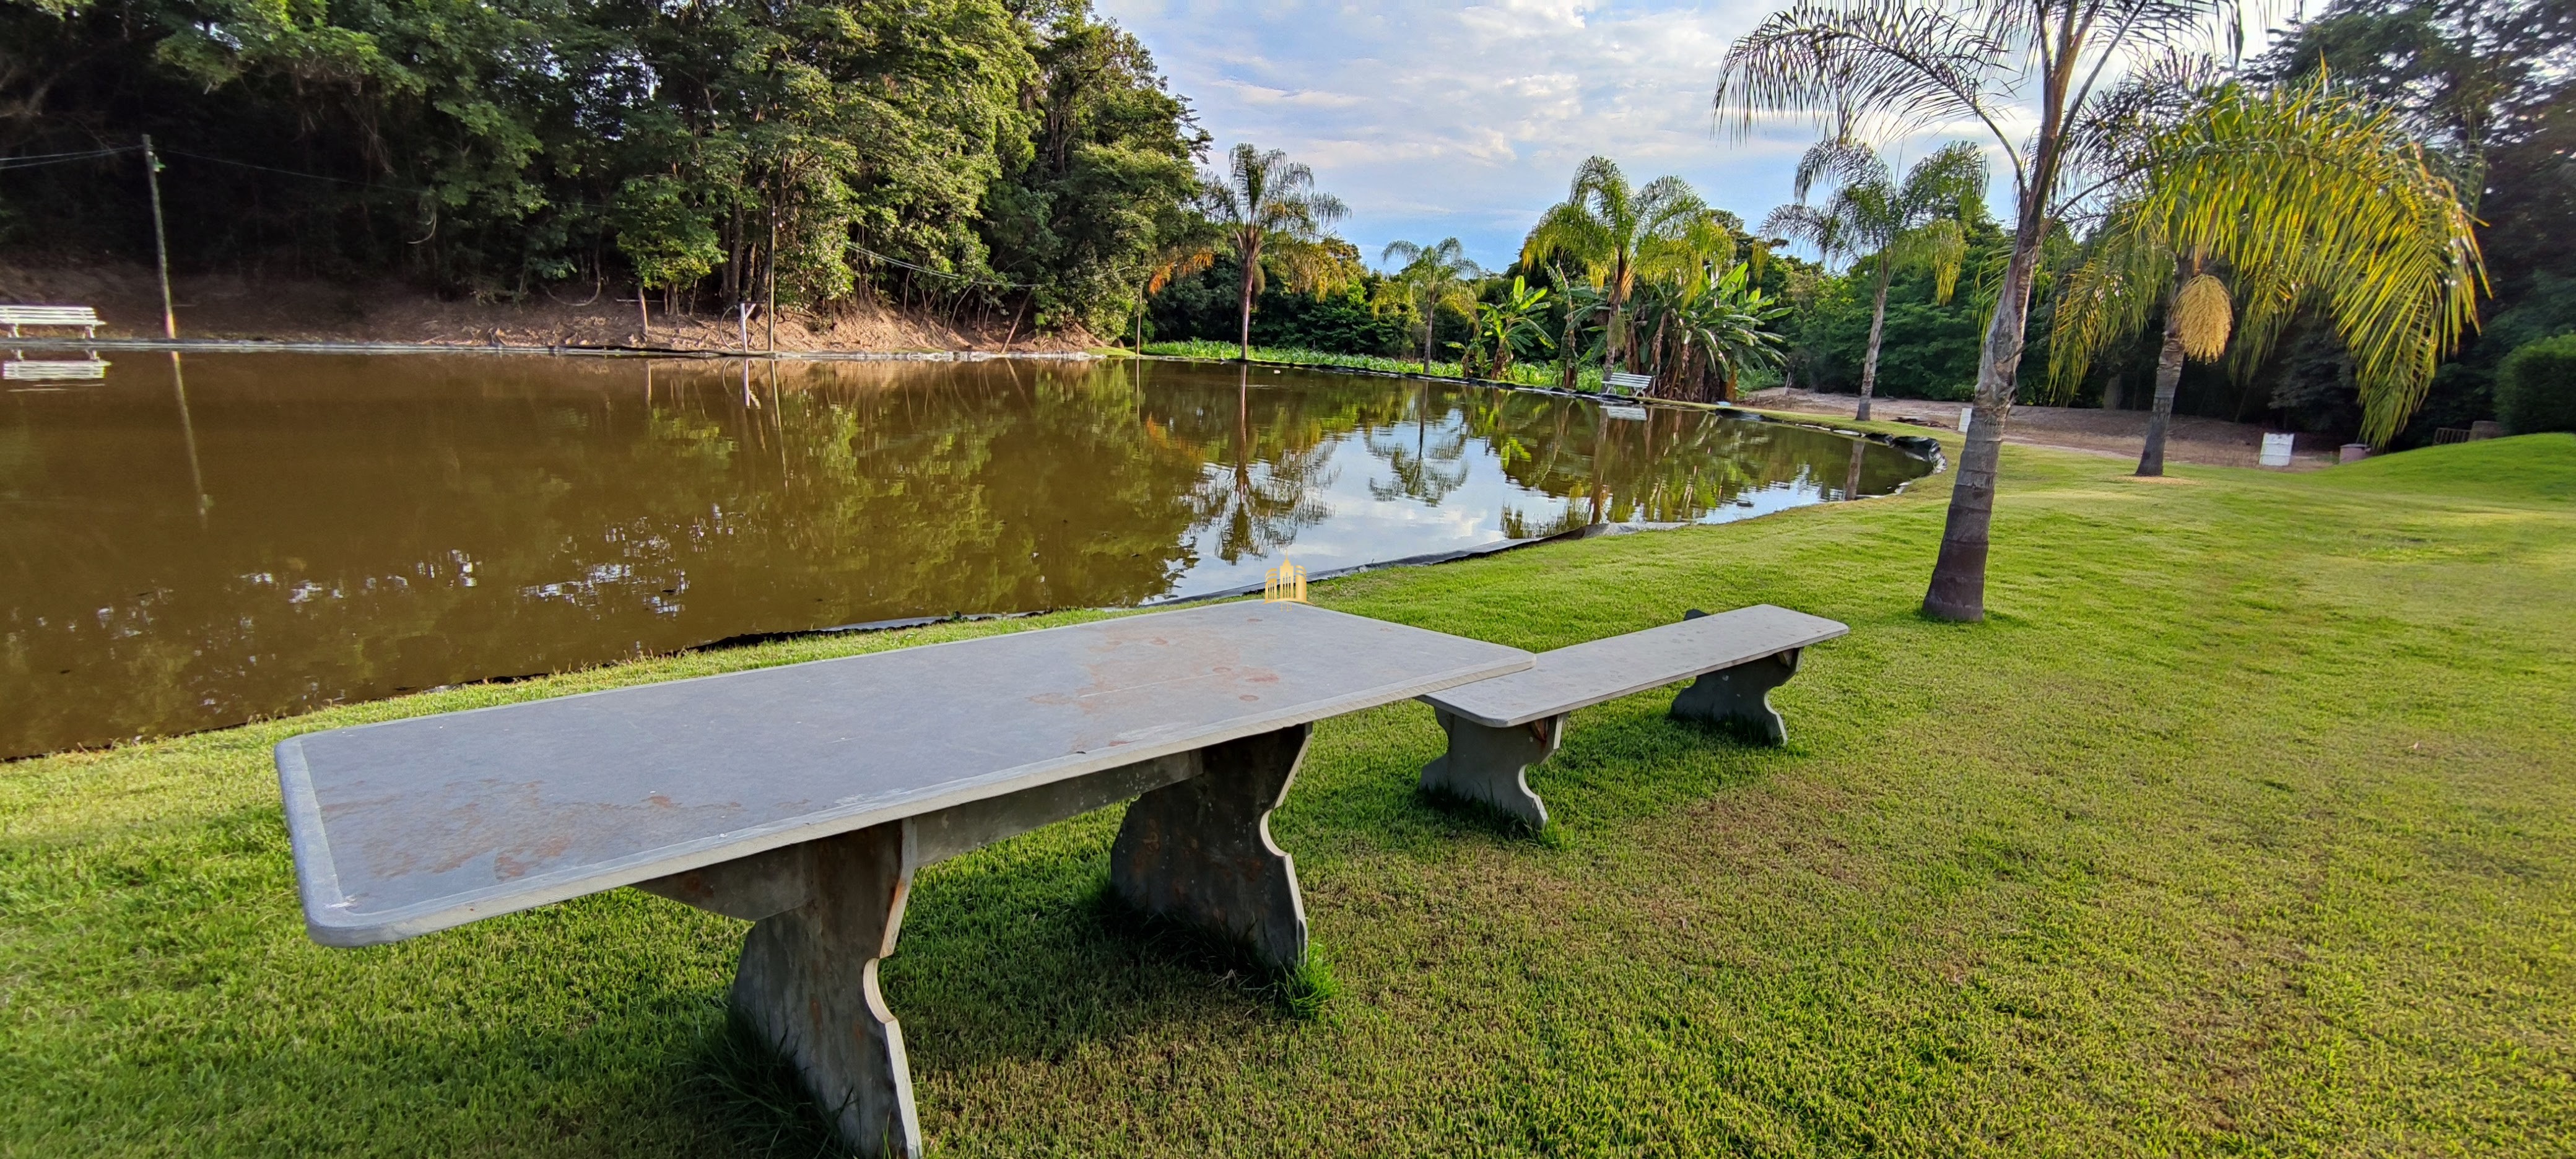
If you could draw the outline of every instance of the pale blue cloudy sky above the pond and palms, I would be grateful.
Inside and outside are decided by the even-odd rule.
[[[1144,39],[1218,149],[1255,142],[1314,165],[1370,263],[1391,240],[1455,234],[1502,268],[1595,152],[1638,183],[1680,173],[1757,224],[1814,142],[1803,116],[1752,137],[1710,118],[1718,57],[1775,0],[1095,3]],[[1945,139],[1888,149],[1922,157]]]

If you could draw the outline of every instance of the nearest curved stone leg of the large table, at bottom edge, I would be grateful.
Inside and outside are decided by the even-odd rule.
[[[904,1028],[876,989],[876,963],[894,953],[912,891],[907,837],[894,822],[775,850],[781,876],[801,876],[806,899],[742,938],[734,1010],[796,1064],[845,1144],[917,1159]]]

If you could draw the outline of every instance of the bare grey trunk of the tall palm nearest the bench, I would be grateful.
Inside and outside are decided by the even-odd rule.
[[[2004,458],[2004,425],[2012,420],[2012,391],[2022,371],[2022,330],[2030,312],[2030,276],[2040,265],[2045,216],[2022,209],[2012,237],[2012,265],[1986,325],[1986,345],[1976,361],[1976,422],[1958,456],[1958,482],[1950,484],[1950,515],[1942,520],[1940,561],[1924,590],[1924,616],[1937,621],[1986,618],[1986,546],[1994,525],[1994,474]]]

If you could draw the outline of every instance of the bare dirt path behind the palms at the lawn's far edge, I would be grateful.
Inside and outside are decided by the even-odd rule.
[[[1749,407],[1852,417],[1852,407],[1860,404],[1860,397],[1767,389],[1747,394],[1744,402]],[[1958,430],[1960,410],[1965,407],[1958,402],[1870,402],[1870,417],[1875,420],[1924,420],[1940,425],[1942,430]],[[2259,466],[2262,435],[2264,428],[2254,422],[2174,415],[2174,428],[2164,438],[2164,458],[2205,466]],[[2146,412],[2097,407],[2012,407],[2012,428],[2004,433],[2004,440],[2136,461],[2138,451],[2146,446]],[[2290,458],[2290,469],[2313,471],[2318,466],[2334,466],[2336,443],[2339,440],[2334,435],[2298,435],[2298,451]]]

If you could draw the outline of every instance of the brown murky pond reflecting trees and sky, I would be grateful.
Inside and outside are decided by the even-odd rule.
[[[13,371],[18,373],[18,371]],[[1824,430],[1200,363],[126,353],[0,407],[0,755],[1886,495]]]

